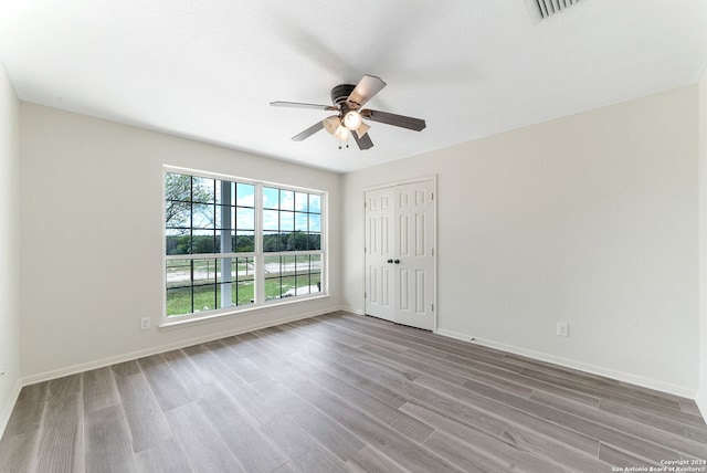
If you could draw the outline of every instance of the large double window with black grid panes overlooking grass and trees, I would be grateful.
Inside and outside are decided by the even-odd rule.
[[[167,170],[166,316],[320,294],[324,198],[312,190]]]

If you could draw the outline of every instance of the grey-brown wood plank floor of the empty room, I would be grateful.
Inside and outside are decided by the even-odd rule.
[[[344,312],[28,386],[0,441],[3,473],[611,472],[700,459],[707,425],[692,400]]]

